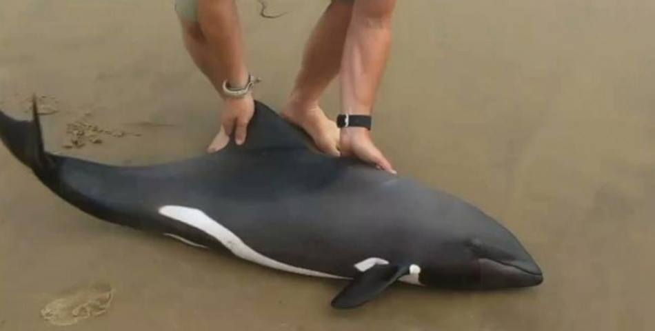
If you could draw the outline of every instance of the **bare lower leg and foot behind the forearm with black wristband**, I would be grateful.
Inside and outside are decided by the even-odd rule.
[[[339,129],[319,107],[321,95],[341,67],[343,43],[352,16],[352,2],[334,0],[305,46],[295,86],[282,113],[301,126],[323,152],[339,155]]]

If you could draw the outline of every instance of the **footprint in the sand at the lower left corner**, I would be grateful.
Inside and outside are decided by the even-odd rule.
[[[107,312],[113,297],[114,290],[104,283],[75,288],[48,303],[41,317],[54,325],[72,325]]]

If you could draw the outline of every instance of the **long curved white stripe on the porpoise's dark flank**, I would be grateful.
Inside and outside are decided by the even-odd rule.
[[[265,257],[248,247],[248,245],[241,241],[239,237],[236,237],[236,234],[232,233],[232,231],[228,230],[228,228],[225,228],[220,223],[214,221],[214,219],[208,217],[207,214],[202,212],[202,210],[182,207],[179,205],[165,205],[159,208],[159,213],[165,217],[177,219],[178,221],[209,234],[216,238],[216,240],[220,241],[225,248],[228,248],[228,250],[230,250],[234,255],[241,257],[241,259],[265,265],[269,268],[294,272],[296,274],[305,274],[314,277],[344,278],[333,274],[325,274],[319,271],[294,267],[293,265],[288,265],[270,259],[269,257]]]

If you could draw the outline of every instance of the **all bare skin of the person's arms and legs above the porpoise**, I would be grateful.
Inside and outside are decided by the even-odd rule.
[[[391,19],[396,0],[334,1],[325,10],[308,40],[301,69],[282,115],[301,126],[327,154],[358,157],[394,172],[364,128],[339,132],[319,106],[337,75],[341,77],[341,112],[372,114],[373,104],[391,45]],[[181,21],[183,38],[194,63],[219,93],[223,81],[241,87],[248,83],[243,33],[234,0],[198,0],[198,22]],[[254,112],[252,94],[224,97],[225,111],[210,152],[225,146],[234,134],[237,144],[247,138]]]

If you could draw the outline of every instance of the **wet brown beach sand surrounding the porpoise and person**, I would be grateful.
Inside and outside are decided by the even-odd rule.
[[[3,0],[3,108],[24,116],[32,92],[56,97],[54,152],[116,164],[203,152],[219,103],[170,2]],[[273,20],[239,3],[257,96],[279,107],[325,3],[271,1],[290,11]],[[0,330],[51,330],[43,306],[97,282],[115,291],[110,310],[62,330],[655,330],[653,17],[640,0],[399,1],[376,141],[401,174],[502,219],[541,264],[538,288],[396,286],[335,311],[339,281],[103,223],[0,148]],[[85,112],[141,137],[64,149]]]

